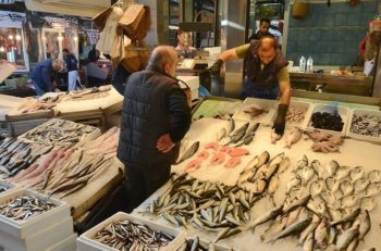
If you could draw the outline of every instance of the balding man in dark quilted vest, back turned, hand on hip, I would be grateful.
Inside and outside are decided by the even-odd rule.
[[[173,77],[176,64],[173,47],[157,47],[125,87],[118,158],[125,165],[128,211],[168,181],[190,126],[186,96]]]

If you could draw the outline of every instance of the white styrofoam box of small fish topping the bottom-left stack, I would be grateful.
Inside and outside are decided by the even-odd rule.
[[[47,198],[41,193],[22,189],[0,197],[0,205],[21,196],[35,196],[44,200]],[[5,217],[4,215],[0,215],[0,230],[16,238],[25,239],[42,229],[50,227],[51,225],[71,217],[70,205],[66,202],[53,198],[49,198],[49,201],[54,203],[57,206],[26,221],[14,221]]]

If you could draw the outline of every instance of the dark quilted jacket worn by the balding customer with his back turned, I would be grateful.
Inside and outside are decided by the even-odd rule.
[[[190,121],[186,96],[175,78],[151,70],[132,74],[124,92],[118,158],[126,165],[174,163],[179,141],[189,129]],[[167,133],[176,147],[164,154],[156,145]]]

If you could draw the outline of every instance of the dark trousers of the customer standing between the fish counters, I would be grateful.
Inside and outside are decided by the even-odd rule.
[[[171,173],[170,164],[144,167],[124,164],[124,168],[128,196],[128,213],[164,185],[169,180]]]

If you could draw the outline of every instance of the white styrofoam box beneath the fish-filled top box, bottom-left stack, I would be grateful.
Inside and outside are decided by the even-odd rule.
[[[50,224],[49,227],[38,233],[35,231],[35,235],[25,239],[16,238],[1,230],[0,247],[4,251],[41,251],[73,236],[73,219],[72,217],[66,217],[59,223]]]

